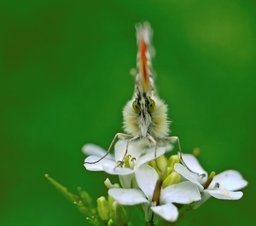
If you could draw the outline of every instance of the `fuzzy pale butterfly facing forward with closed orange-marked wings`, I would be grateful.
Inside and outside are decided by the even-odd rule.
[[[134,142],[140,147],[154,147],[155,158],[158,147],[165,147],[169,143],[177,142],[179,156],[181,162],[183,162],[178,137],[168,136],[170,121],[167,118],[166,103],[160,99],[154,87],[152,28],[148,22],[144,22],[136,26],[136,31],[137,69],[133,74],[135,90],[131,100],[126,103],[123,109],[125,133],[117,133],[113,137],[107,154],[95,162],[85,162],[87,164],[94,164],[104,159],[117,138],[127,141],[125,155],[128,153],[129,144]]]

